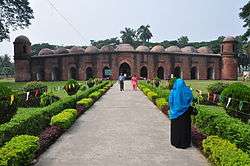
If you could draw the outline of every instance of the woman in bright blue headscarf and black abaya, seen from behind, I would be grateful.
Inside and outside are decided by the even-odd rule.
[[[187,148],[191,145],[191,117],[188,108],[192,100],[192,91],[184,80],[176,79],[169,96],[171,144],[176,148]]]

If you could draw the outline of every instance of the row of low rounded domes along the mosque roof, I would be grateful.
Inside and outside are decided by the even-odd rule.
[[[201,54],[213,54],[213,51],[209,47],[200,47],[198,49],[192,46],[186,46],[184,48],[179,48],[177,46],[170,46],[168,48],[164,48],[161,45],[154,46],[151,50],[147,46],[139,46],[135,50],[130,44],[119,44],[115,49],[112,46],[103,46],[100,50],[95,46],[89,46],[86,49],[81,47],[72,47],[71,49],[66,48],[58,48],[57,50],[51,50],[48,48],[42,49],[38,55],[51,55],[51,54],[94,54],[98,52],[127,52],[127,51],[137,51],[137,52],[174,52],[174,53],[201,53]]]

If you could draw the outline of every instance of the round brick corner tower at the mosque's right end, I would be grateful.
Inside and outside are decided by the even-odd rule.
[[[236,40],[234,37],[226,37],[221,45],[222,56],[222,68],[221,79],[222,80],[237,80],[238,77],[238,63],[237,63],[237,49]]]

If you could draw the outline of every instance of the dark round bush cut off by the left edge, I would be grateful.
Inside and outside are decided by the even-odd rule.
[[[17,110],[15,97],[12,96],[12,90],[6,86],[0,85],[0,124],[9,121]],[[11,103],[11,98],[13,101]]]

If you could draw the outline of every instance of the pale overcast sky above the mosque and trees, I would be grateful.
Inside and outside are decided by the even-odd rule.
[[[0,55],[13,56],[13,41],[27,36],[32,44],[89,45],[90,40],[119,37],[125,27],[149,24],[152,41],[174,40],[185,35],[190,41],[209,41],[218,36],[245,32],[239,18],[248,0],[50,0],[81,33],[74,30],[49,0],[30,0],[35,19],[24,30],[11,32],[0,43]]]

